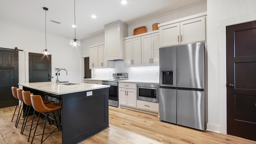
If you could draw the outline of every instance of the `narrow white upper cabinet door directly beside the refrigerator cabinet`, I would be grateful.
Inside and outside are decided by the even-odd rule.
[[[159,65],[159,33],[151,34],[151,65],[158,66]]]

